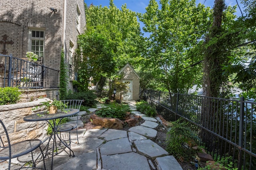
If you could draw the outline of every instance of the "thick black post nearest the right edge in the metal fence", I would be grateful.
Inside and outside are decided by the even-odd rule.
[[[242,146],[244,142],[244,97],[240,98],[238,169],[242,169]]]

